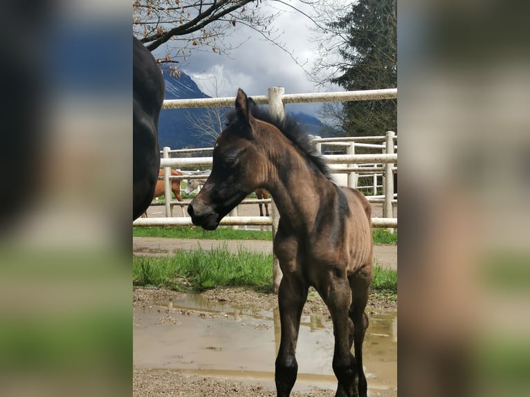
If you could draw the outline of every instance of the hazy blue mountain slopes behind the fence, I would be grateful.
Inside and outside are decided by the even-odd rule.
[[[211,98],[203,93],[192,77],[181,73],[181,77],[173,77],[164,73],[165,99],[195,99]],[[223,108],[222,111],[230,108]],[[163,109],[158,120],[158,142],[161,149],[165,146],[172,149],[183,147],[207,147],[196,129],[192,126],[191,118],[200,120],[205,117],[206,109]],[[322,135],[324,125],[318,118],[307,113],[293,113],[288,111],[309,133]]]

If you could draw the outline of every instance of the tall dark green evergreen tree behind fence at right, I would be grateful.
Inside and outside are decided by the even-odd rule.
[[[397,86],[396,0],[358,0],[351,11],[329,26],[345,34],[339,53],[342,75],[331,81],[348,91]],[[344,125],[349,136],[380,136],[397,132],[397,100],[345,102]]]

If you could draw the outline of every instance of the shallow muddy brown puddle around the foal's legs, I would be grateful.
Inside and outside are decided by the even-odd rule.
[[[277,310],[233,308],[188,294],[152,308],[134,308],[134,366],[260,382],[273,387],[280,343]],[[397,387],[397,314],[369,315],[363,363],[370,394]],[[302,316],[295,390],[336,389],[331,320]]]

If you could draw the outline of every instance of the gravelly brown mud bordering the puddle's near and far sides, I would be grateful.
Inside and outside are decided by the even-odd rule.
[[[150,287],[136,287],[133,290],[133,307],[153,308],[160,302],[172,302],[179,299],[183,293],[172,290]],[[248,304],[273,310],[277,306],[277,297],[273,294],[259,293],[246,288],[218,288],[207,290],[201,294],[203,299],[211,302],[222,302],[235,307],[245,307]],[[396,302],[372,295],[369,299],[367,313],[373,315],[385,311],[396,311]],[[304,315],[328,315],[322,299],[314,290],[310,291]],[[183,313],[189,314],[189,313]],[[206,314],[208,315],[208,314]],[[161,313],[161,318],[165,318]],[[312,388],[309,391],[293,391],[292,396],[334,396],[330,389]],[[372,392],[370,396],[396,396],[397,391]],[[276,396],[272,382],[257,382],[255,380],[233,380],[230,378],[197,376],[182,371],[170,369],[133,369],[133,396]]]

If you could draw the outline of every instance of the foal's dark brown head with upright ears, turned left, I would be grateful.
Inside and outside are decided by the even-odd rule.
[[[265,182],[267,160],[256,138],[261,129],[275,127],[254,118],[253,107],[253,100],[239,89],[235,117],[215,143],[212,172],[188,206],[194,225],[214,230],[223,216]]]

